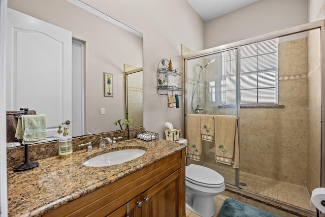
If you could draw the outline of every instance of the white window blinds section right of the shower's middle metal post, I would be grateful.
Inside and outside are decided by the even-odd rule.
[[[240,103],[277,104],[278,39],[240,48]]]

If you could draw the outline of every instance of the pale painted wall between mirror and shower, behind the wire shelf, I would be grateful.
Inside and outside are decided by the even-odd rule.
[[[181,44],[204,49],[204,22],[186,0],[83,1],[143,34],[144,127],[164,139],[165,122],[181,128],[182,108],[167,108],[167,96],[157,95],[157,65],[172,58],[181,69]]]

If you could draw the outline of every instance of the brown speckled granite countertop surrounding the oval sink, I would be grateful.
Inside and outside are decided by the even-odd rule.
[[[132,139],[118,141],[117,146],[109,146],[105,150],[94,148],[92,152],[76,151],[70,158],[56,156],[42,159],[38,161],[38,167],[23,172],[13,172],[13,167],[8,167],[8,216],[40,216],[184,147],[185,144],[169,140],[146,142]],[[99,154],[125,148],[140,148],[146,150],[146,153],[135,160],[113,166],[82,165]]]

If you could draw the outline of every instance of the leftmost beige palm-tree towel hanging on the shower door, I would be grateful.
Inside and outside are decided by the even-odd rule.
[[[186,115],[187,158],[200,161],[201,156],[201,115]]]

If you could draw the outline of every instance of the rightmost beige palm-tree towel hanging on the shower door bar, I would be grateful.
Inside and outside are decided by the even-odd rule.
[[[239,146],[236,116],[215,116],[215,160],[239,168]]]

